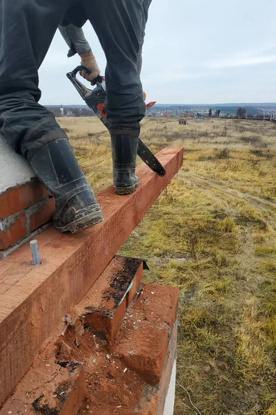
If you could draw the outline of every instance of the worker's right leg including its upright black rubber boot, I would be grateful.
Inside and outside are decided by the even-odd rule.
[[[139,185],[135,163],[140,124],[146,113],[139,76],[150,0],[82,0],[106,54],[106,111],[111,134],[115,192]]]

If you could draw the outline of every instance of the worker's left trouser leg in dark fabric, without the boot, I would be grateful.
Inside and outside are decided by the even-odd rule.
[[[66,0],[0,1],[0,132],[28,160],[49,131],[62,134],[37,103],[37,70],[67,8]]]

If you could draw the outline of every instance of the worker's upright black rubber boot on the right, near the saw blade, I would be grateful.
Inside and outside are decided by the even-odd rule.
[[[139,185],[135,175],[139,137],[111,135],[115,193],[130,194]]]

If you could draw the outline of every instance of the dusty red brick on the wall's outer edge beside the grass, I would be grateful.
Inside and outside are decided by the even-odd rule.
[[[117,353],[146,382],[161,379],[175,326],[179,290],[147,284],[132,303],[119,333]]]

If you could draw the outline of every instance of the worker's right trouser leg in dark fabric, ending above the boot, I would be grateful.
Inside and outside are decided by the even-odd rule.
[[[139,131],[146,108],[139,70],[150,0],[82,0],[106,54],[106,110],[110,132]]]

